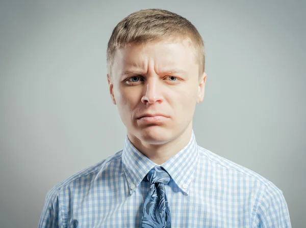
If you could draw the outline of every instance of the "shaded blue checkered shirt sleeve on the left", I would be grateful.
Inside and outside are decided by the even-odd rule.
[[[43,210],[39,219],[38,228],[58,228],[62,227],[61,223],[61,207],[59,194],[56,188],[48,191]]]

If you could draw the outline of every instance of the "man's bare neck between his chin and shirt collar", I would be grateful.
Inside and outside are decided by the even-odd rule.
[[[185,129],[185,131],[174,138],[169,139],[164,144],[149,144],[141,141],[134,135],[127,134],[134,147],[139,150],[144,156],[149,158],[152,162],[161,165],[169,158],[179,153],[190,141],[192,134],[192,123]]]

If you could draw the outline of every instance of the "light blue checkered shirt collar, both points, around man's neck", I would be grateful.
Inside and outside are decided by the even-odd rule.
[[[168,172],[176,185],[188,195],[198,158],[198,145],[192,131],[187,146],[160,166]],[[152,162],[138,151],[126,135],[122,151],[122,166],[127,184],[129,185],[130,194],[132,194],[149,170],[154,166],[158,166],[158,164]]]

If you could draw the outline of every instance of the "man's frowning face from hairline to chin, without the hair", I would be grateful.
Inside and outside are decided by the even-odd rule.
[[[117,50],[112,69],[110,93],[129,137],[165,144],[192,129],[206,74],[199,77],[188,40],[127,45]]]

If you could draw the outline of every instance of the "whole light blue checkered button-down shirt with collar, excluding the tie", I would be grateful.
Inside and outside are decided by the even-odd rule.
[[[124,149],[47,192],[38,227],[140,227],[156,166],[126,136]],[[172,227],[291,227],[281,190],[251,170],[189,144],[161,165]]]

